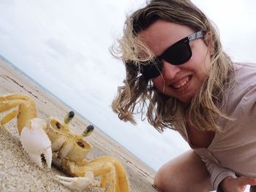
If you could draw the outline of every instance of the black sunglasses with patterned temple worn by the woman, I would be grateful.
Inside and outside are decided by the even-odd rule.
[[[162,53],[162,55],[154,58],[153,61],[147,61],[141,64],[140,73],[143,74],[143,77],[148,80],[159,76],[164,69],[162,59],[172,65],[181,65],[186,63],[192,57],[189,42],[200,38],[203,38],[203,31],[197,31],[195,34],[191,34],[188,37],[179,40],[175,44],[168,47],[167,50]],[[129,62],[129,64],[131,63]]]

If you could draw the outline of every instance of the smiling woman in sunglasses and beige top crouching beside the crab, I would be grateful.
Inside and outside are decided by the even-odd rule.
[[[114,53],[127,77],[113,110],[146,114],[192,150],[157,172],[161,191],[244,191],[256,185],[256,68],[235,64],[217,31],[189,0],[151,0],[127,18]],[[117,52],[116,52],[117,51]]]

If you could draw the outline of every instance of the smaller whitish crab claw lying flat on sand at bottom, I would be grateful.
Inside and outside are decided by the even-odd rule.
[[[93,172],[86,172],[86,175],[84,177],[63,177],[60,175],[56,175],[56,177],[63,185],[66,185],[69,188],[76,190],[82,190],[84,188],[87,188],[94,181]]]

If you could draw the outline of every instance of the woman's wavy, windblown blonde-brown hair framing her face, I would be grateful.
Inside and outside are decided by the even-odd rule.
[[[189,105],[184,105],[174,97],[168,97],[154,88],[151,80],[140,75],[140,64],[150,61],[154,54],[138,39],[140,31],[145,30],[156,20],[166,20],[189,26],[194,31],[206,31],[204,42],[211,47],[211,66],[208,76]],[[163,128],[176,129],[176,123],[183,120],[202,131],[220,131],[217,118],[229,119],[222,112],[223,97],[227,88],[233,84],[233,65],[222,51],[217,30],[189,0],[151,0],[146,7],[138,9],[127,17],[124,36],[118,39],[118,47],[113,46],[112,53],[124,61],[127,76],[124,85],[118,87],[113,100],[113,111],[121,120],[135,123],[134,114],[146,114],[148,122],[158,131]],[[143,57],[139,53],[146,53]],[[129,61],[136,65],[129,65]],[[181,117],[177,118],[177,110]]]

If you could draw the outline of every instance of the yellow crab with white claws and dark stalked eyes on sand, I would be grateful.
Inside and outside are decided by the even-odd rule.
[[[72,176],[56,175],[63,185],[83,190],[95,185],[94,178],[100,176],[99,188],[109,192],[129,191],[127,174],[117,158],[102,156],[86,159],[86,154],[92,148],[86,137],[94,130],[94,126],[89,125],[83,134],[74,134],[69,129],[74,112],[68,112],[64,123],[52,117],[42,120],[37,118],[34,100],[25,94],[0,96],[0,112],[7,112],[0,120],[0,126],[6,131],[6,124],[17,118],[20,142],[37,166],[43,167],[43,155],[49,169],[53,161],[53,164]]]

